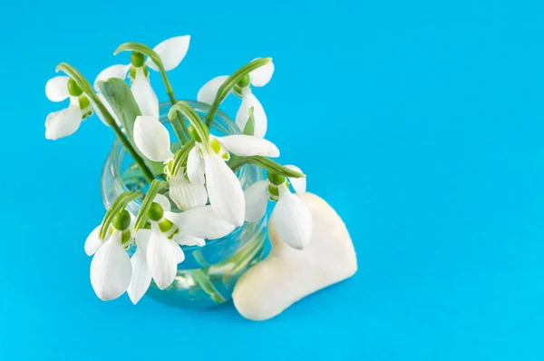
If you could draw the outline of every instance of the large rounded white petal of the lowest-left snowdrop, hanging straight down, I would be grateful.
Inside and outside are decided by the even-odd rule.
[[[114,232],[92,258],[92,289],[102,301],[118,298],[129,287],[131,275],[131,259],[121,245],[121,232]]]

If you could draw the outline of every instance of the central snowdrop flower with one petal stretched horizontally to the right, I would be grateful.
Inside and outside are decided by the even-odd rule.
[[[225,161],[230,153],[239,156],[279,157],[271,141],[251,135],[209,136],[208,144],[197,141],[189,151],[187,175],[193,184],[204,184],[211,207],[235,226],[244,223],[245,199],[241,184]]]

